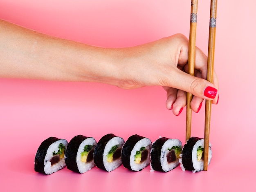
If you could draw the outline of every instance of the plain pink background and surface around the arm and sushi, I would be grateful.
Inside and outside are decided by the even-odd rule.
[[[102,47],[127,47],[189,34],[190,0],[0,0],[0,18],[47,33]],[[210,0],[198,2],[197,46],[207,53]],[[162,87],[123,90],[81,82],[0,79],[0,191],[255,191],[256,2],[218,1],[215,69],[219,104],[213,105],[207,172],[85,174],[64,168],[34,172],[34,155],[49,136],[113,133],[125,140],[140,134],[185,141],[185,111],[165,108]],[[204,107],[193,113],[192,136],[204,136]]]

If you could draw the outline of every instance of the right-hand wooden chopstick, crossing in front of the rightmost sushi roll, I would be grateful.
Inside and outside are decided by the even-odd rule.
[[[216,12],[217,12],[217,0],[211,0],[208,60],[207,60],[207,80],[211,83],[213,83],[213,64],[214,64],[214,49],[215,49],[215,36],[216,36]],[[211,122],[211,100],[206,100],[205,122],[204,122],[204,171],[207,171],[207,166],[208,166],[210,122]]]

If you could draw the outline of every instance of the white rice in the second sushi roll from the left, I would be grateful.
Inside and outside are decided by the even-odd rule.
[[[82,162],[81,161],[81,153],[84,151],[84,147],[85,145],[92,145],[94,146],[93,149],[95,148],[95,146],[97,145],[97,142],[95,141],[94,138],[89,137],[86,138],[80,145],[76,154],[76,165],[78,167],[78,170],[80,173],[85,173],[88,170],[91,170],[92,167],[95,166],[94,161],[90,161],[90,162]]]

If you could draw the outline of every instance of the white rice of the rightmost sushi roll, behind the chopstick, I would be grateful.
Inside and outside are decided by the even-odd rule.
[[[202,147],[204,148],[204,139],[200,139],[199,141],[197,141],[192,149],[192,163],[193,163],[193,167],[195,170],[193,170],[192,172],[200,172],[204,169],[204,161],[201,159],[200,161],[198,161],[198,157],[197,157],[197,151],[198,151],[198,147]],[[182,171],[185,171],[185,168],[182,164],[182,154],[180,154],[180,167],[182,169]],[[211,157],[212,157],[212,152],[211,152],[211,143],[209,143],[209,151],[208,151],[208,163],[207,165],[210,164],[211,162]]]

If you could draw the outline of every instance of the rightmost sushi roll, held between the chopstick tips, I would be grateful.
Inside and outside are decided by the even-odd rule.
[[[211,162],[211,143],[209,143],[208,165]],[[204,167],[204,139],[191,137],[182,149],[180,167],[183,171],[190,170],[193,173],[203,170]]]

